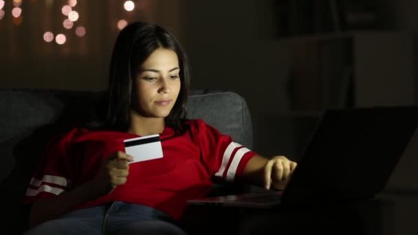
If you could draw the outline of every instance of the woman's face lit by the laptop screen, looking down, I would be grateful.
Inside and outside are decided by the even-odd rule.
[[[179,60],[173,50],[156,49],[140,66],[133,110],[142,117],[168,116],[181,87],[179,71]]]

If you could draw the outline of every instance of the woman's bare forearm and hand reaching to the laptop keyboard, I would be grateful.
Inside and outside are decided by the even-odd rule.
[[[274,156],[271,159],[255,155],[248,161],[241,178],[265,189],[283,190],[297,164],[285,156]]]

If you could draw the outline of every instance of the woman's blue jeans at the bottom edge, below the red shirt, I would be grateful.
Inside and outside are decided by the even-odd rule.
[[[164,212],[145,205],[115,201],[107,205],[69,212],[33,227],[24,235],[48,234],[178,234],[186,232]]]

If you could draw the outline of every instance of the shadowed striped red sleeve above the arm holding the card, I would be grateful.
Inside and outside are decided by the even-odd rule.
[[[47,144],[41,161],[30,179],[23,203],[56,197],[69,190],[72,172],[66,153],[69,140],[76,131],[74,129],[69,133],[58,135]]]

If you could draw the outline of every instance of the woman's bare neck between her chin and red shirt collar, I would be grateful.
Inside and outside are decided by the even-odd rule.
[[[165,123],[163,117],[142,117],[133,113],[131,125],[128,132],[135,135],[145,136],[159,134],[164,131]]]

